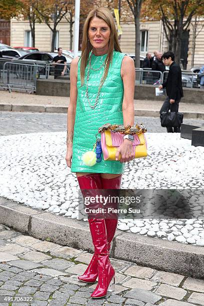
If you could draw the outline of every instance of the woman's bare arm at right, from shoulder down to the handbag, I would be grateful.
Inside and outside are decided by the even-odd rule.
[[[122,101],[123,124],[134,124],[134,61],[130,56],[124,56],[121,64],[121,77],[124,86]]]

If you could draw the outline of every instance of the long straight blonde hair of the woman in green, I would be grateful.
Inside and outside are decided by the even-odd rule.
[[[81,79],[81,86],[83,85],[84,82],[84,74],[85,74],[85,67],[87,65],[88,61],[88,56],[89,52],[92,49],[92,45],[88,39],[88,27],[90,24],[90,20],[93,17],[98,17],[100,19],[103,19],[107,25],[110,28],[110,38],[109,38],[109,48],[108,48],[108,53],[106,57],[106,62],[105,62],[105,69],[104,69],[104,74],[103,74],[103,79],[102,83],[104,82],[108,68],[110,65],[110,62],[112,61],[112,54],[113,50],[122,52],[119,46],[119,41],[118,41],[118,36],[117,36],[117,30],[115,27],[114,19],[113,16],[110,12],[110,10],[106,7],[98,7],[98,8],[93,8],[89,11],[84,25],[83,25],[83,36],[82,36],[82,47],[81,47],[81,56],[80,56],[80,79]]]

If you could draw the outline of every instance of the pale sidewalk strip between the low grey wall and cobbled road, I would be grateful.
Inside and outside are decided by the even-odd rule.
[[[69,97],[35,95],[21,92],[0,91],[0,111],[36,111],[36,112],[67,112]],[[159,115],[162,101],[134,100],[135,115],[152,116]],[[203,104],[179,103],[179,111],[185,118],[204,118]]]

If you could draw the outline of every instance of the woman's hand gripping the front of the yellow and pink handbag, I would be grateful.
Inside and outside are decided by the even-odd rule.
[[[134,151],[132,146],[132,141],[128,139],[124,139],[123,142],[118,147],[115,159],[118,160],[119,153],[121,155],[120,162],[130,161],[134,158]]]

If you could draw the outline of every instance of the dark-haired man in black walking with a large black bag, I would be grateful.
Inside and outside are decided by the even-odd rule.
[[[163,62],[165,66],[169,66],[167,80],[163,82],[159,88],[166,88],[167,97],[161,106],[160,113],[162,111],[178,111],[178,105],[181,97],[183,96],[182,90],[182,78],[180,66],[174,62],[174,54],[172,51],[163,53]],[[166,127],[167,132],[180,132],[180,127],[173,126]]]

